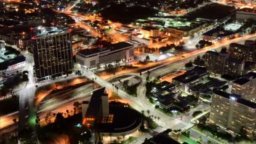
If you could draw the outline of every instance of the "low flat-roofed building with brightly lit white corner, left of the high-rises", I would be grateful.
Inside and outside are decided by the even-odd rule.
[[[179,75],[172,79],[173,84],[177,85],[180,91],[189,92],[189,89],[199,83],[205,83],[208,81],[210,73],[203,67],[195,67],[192,70],[188,70],[183,75]]]

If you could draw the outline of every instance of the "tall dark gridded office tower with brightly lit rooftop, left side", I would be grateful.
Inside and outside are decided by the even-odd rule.
[[[37,81],[72,72],[70,32],[56,27],[37,27],[32,30],[32,43]]]

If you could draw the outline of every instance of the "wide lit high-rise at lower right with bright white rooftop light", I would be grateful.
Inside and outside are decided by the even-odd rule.
[[[239,134],[243,129],[248,137],[252,137],[256,129],[256,104],[237,94],[215,91],[209,123],[219,125],[232,134]]]

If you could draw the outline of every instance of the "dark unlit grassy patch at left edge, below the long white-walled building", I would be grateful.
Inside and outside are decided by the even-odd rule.
[[[0,101],[0,116],[19,110],[19,96],[12,96]]]

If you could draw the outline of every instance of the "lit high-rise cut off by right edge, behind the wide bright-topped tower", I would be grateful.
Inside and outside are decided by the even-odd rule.
[[[231,93],[241,95],[248,101],[256,101],[256,73],[248,72],[232,83]]]

